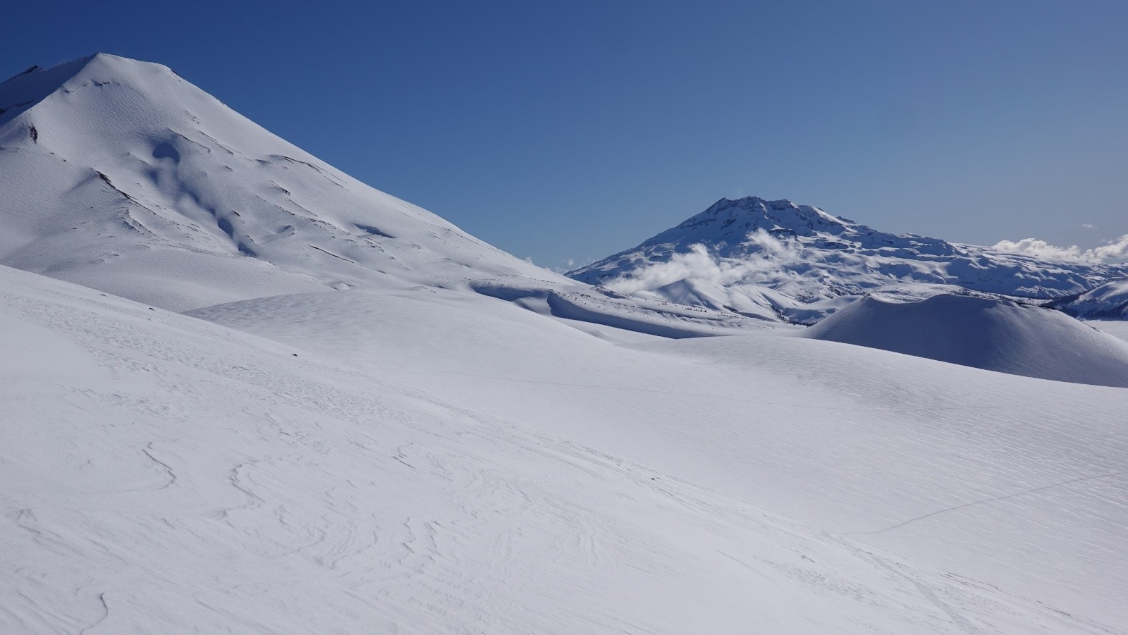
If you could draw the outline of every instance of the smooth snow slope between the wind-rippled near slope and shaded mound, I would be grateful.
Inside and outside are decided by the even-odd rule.
[[[1128,390],[778,329],[627,339],[443,290],[192,315],[1128,628]]]

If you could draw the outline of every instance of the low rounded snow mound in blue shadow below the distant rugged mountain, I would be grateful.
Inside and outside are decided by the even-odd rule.
[[[1060,311],[1005,300],[862,298],[803,336],[1025,377],[1128,387],[1128,344]]]

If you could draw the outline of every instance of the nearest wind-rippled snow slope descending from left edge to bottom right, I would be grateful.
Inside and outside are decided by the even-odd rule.
[[[0,294],[5,632],[1107,632],[391,369]]]

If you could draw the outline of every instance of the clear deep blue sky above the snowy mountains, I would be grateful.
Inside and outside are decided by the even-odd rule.
[[[2,77],[96,51],[167,64],[544,266],[749,194],[966,242],[1128,233],[1122,0],[38,1],[3,19]]]

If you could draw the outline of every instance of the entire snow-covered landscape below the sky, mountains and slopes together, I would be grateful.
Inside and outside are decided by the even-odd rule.
[[[0,85],[0,265],[2,633],[1128,633],[1125,265],[563,276],[105,54]]]

